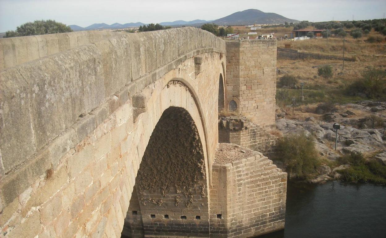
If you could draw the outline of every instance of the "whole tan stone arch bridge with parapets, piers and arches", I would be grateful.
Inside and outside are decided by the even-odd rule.
[[[215,161],[220,129],[247,145],[245,122],[218,120],[231,101],[257,121],[253,138],[274,124],[275,41],[185,27],[15,37],[0,51],[0,236],[284,228],[286,173],[259,152]]]

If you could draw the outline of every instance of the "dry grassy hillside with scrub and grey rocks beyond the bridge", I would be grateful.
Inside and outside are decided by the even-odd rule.
[[[293,29],[310,26],[302,23]],[[278,57],[274,132],[280,145],[278,163],[291,177],[311,182],[343,179],[386,184],[385,21],[313,26],[327,28],[323,37],[278,39],[278,48],[290,44],[299,52],[335,57],[344,53],[348,60]],[[334,123],[340,125],[337,136]]]

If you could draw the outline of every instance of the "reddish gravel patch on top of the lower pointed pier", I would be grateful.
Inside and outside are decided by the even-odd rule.
[[[232,161],[247,159],[256,153],[253,150],[231,143],[218,143],[214,164],[228,164]]]

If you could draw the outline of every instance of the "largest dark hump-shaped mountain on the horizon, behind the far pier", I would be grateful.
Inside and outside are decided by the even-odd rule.
[[[249,24],[281,24],[284,22],[300,22],[288,19],[276,13],[262,12],[257,9],[248,9],[242,12],[235,12],[229,16],[214,20],[217,25],[249,25]]]

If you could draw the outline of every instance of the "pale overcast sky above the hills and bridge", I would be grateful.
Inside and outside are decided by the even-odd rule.
[[[0,0],[0,32],[41,19],[86,27],[215,20],[250,8],[296,20],[365,20],[383,18],[386,0]]]

